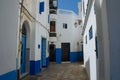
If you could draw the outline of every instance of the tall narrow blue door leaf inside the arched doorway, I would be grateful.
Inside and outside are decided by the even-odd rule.
[[[21,74],[25,73],[25,64],[26,64],[26,36],[22,35]]]

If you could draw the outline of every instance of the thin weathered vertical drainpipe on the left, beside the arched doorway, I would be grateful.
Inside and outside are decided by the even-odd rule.
[[[20,5],[20,22],[19,22],[19,44],[18,44],[18,55],[17,55],[17,58],[18,58],[18,63],[17,63],[17,80],[20,80],[20,63],[21,63],[21,45],[22,45],[22,42],[21,42],[21,33],[22,33],[22,30],[21,30],[21,18],[22,18],[22,5],[23,5],[23,2],[24,0],[21,0],[21,2],[19,3]]]

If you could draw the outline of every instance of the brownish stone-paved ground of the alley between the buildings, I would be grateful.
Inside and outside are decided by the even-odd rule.
[[[28,76],[24,80],[89,80],[82,63],[50,63],[37,76]]]

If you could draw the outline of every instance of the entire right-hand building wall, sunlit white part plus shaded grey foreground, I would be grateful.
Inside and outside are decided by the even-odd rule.
[[[82,0],[82,6],[84,65],[89,78],[119,80],[119,1]]]

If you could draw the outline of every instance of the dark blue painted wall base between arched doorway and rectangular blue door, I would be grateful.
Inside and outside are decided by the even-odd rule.
[[[30,74],[36,75],[41,71],[41,61],[30,61]]]

